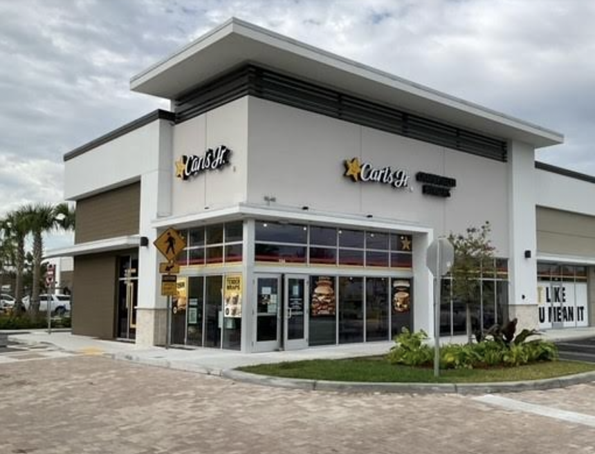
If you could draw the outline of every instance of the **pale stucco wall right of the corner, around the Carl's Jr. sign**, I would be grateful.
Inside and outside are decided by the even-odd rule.
[[[506,163],[252,97],[248,122],[248,202],[274,196],[280,206],[372,214],[431,227],[436,236],[489,220],[497,254],[508,256]],[[412,191],[346,178],[344,162],[354,157],[405,169]],[[456,178],[452,197],[424,196],[418,171]]]

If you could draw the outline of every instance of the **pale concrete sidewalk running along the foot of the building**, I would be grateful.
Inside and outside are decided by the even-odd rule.
[[[544,338],[552,341],[594,337],[595,328],[549,330]],[[152,366],[189,370],[212,375],[221,375],[223,370],[253,364],[300,361],[305,359],[340,359],[387,353],[394,342],[351,343],[340,346],[313,347],[305,350],[277,351],[266,353],[241,353],[216,348],[139,348],[134,343],[104,341],[92,337],[77,336],[70,332],[32,330],[22,334],[10,334],[11,341],[19,343],[50,343],[68,352],[83,354],[106,354],[120,360],[145,363]],[[466,337],[443,337],[441,343],[464,343]]]

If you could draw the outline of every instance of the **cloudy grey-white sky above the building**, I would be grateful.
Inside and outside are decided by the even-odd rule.
[[[592,0],[0,0],[0,216],[63,199],[67,151],[167,108],[129,79],[239,17],[545,126],[595,175]]]

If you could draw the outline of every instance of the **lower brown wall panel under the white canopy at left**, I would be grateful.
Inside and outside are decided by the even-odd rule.
[[[113,339],[116,278],[115,254],[75,257],[73,334]]]

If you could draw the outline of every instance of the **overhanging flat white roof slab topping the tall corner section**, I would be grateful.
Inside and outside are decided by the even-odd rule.
[[[560,144],[551,129],[441,93],[232,18],[130,80],[138,93],[175,100],[241,64],[265,66],[369,100],[536,148]]]

